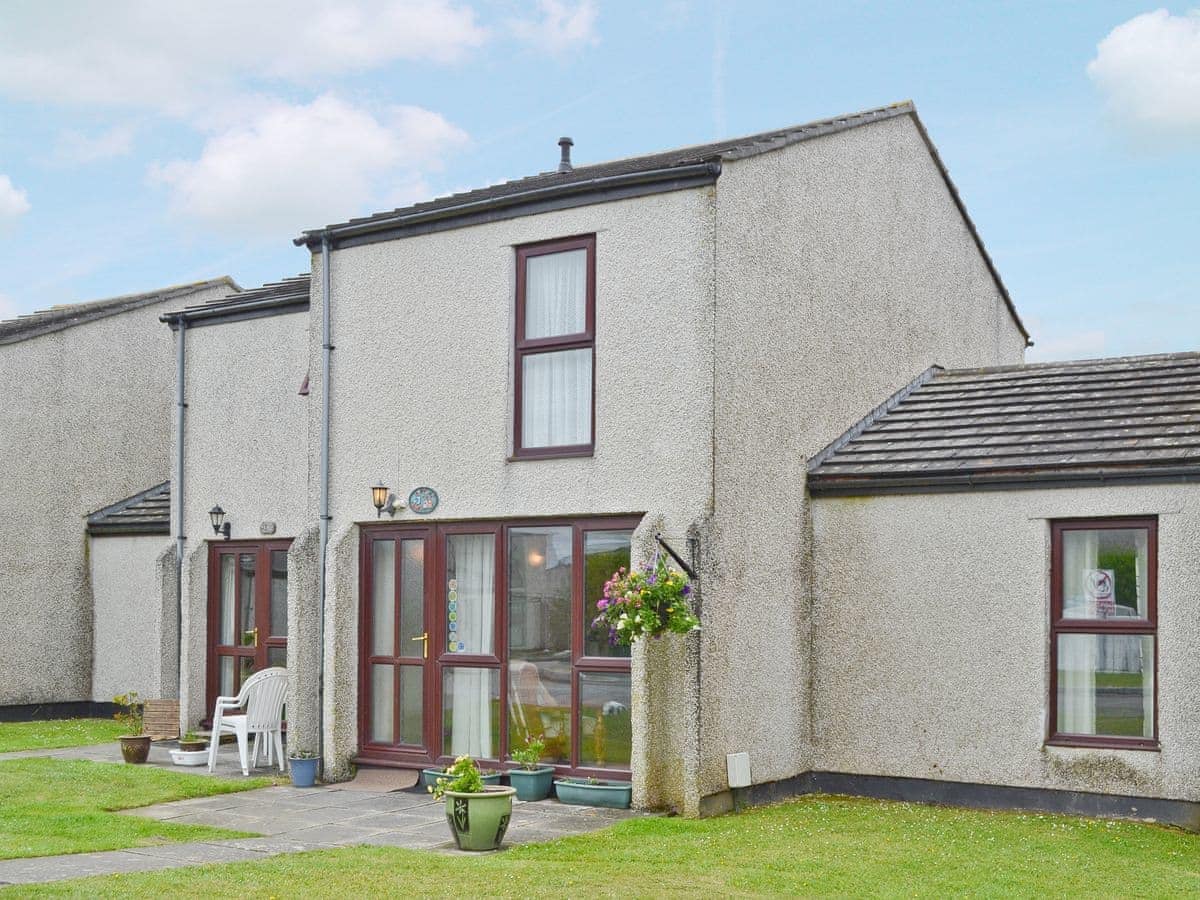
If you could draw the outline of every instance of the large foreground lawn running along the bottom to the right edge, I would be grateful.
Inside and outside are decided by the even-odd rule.
[[[106,896],[1195,896],[1200,839],[1133,822],[810,797],[451,857],[352,847],[29,888]]]

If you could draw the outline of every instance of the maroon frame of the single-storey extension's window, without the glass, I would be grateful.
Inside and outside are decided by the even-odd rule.
[[[1062,536],[1066,532],[1146,529],[1146,618],[1081,619],[1063,618]],[[1154,733],[1150,738],[1108,734],[1070,734],[1058,731],[1058,636],[1060,635],[1150,635],[1154,638]],[[1050,523],[1050,721],[1046,744],[1091,746],[1112,750],[1158,750],[1158,518],[1067,518]]]

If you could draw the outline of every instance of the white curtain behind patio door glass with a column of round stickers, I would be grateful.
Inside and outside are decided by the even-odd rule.
[[[455,584],[457,635],[455,653],[492,653],[496,614],[496,536],[492,534],[452,534],[446,536],[451,565],[446,576]],[[448,593],[448,596],[449,596]],[[462,643],[462,648],[458,648]],[[492,757],[492,677],[491,668],[450,670],[450,752]]]

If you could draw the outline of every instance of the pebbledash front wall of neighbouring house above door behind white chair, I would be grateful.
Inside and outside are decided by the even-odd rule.
[[[307,523],[308,397],[300,394],[307,329],[305,312],[288,312],[185,332],[185,727],[199,721],[208,703],[208,557],[217,540],[209,510],[226,511],[233,540],[294,539]],[[264,534],[264,523],[274,533]]]

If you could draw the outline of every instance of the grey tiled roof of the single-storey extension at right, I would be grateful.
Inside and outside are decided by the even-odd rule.
[[[928,370],[809,462],[814,494],[1200,480],[1200,353]]]

